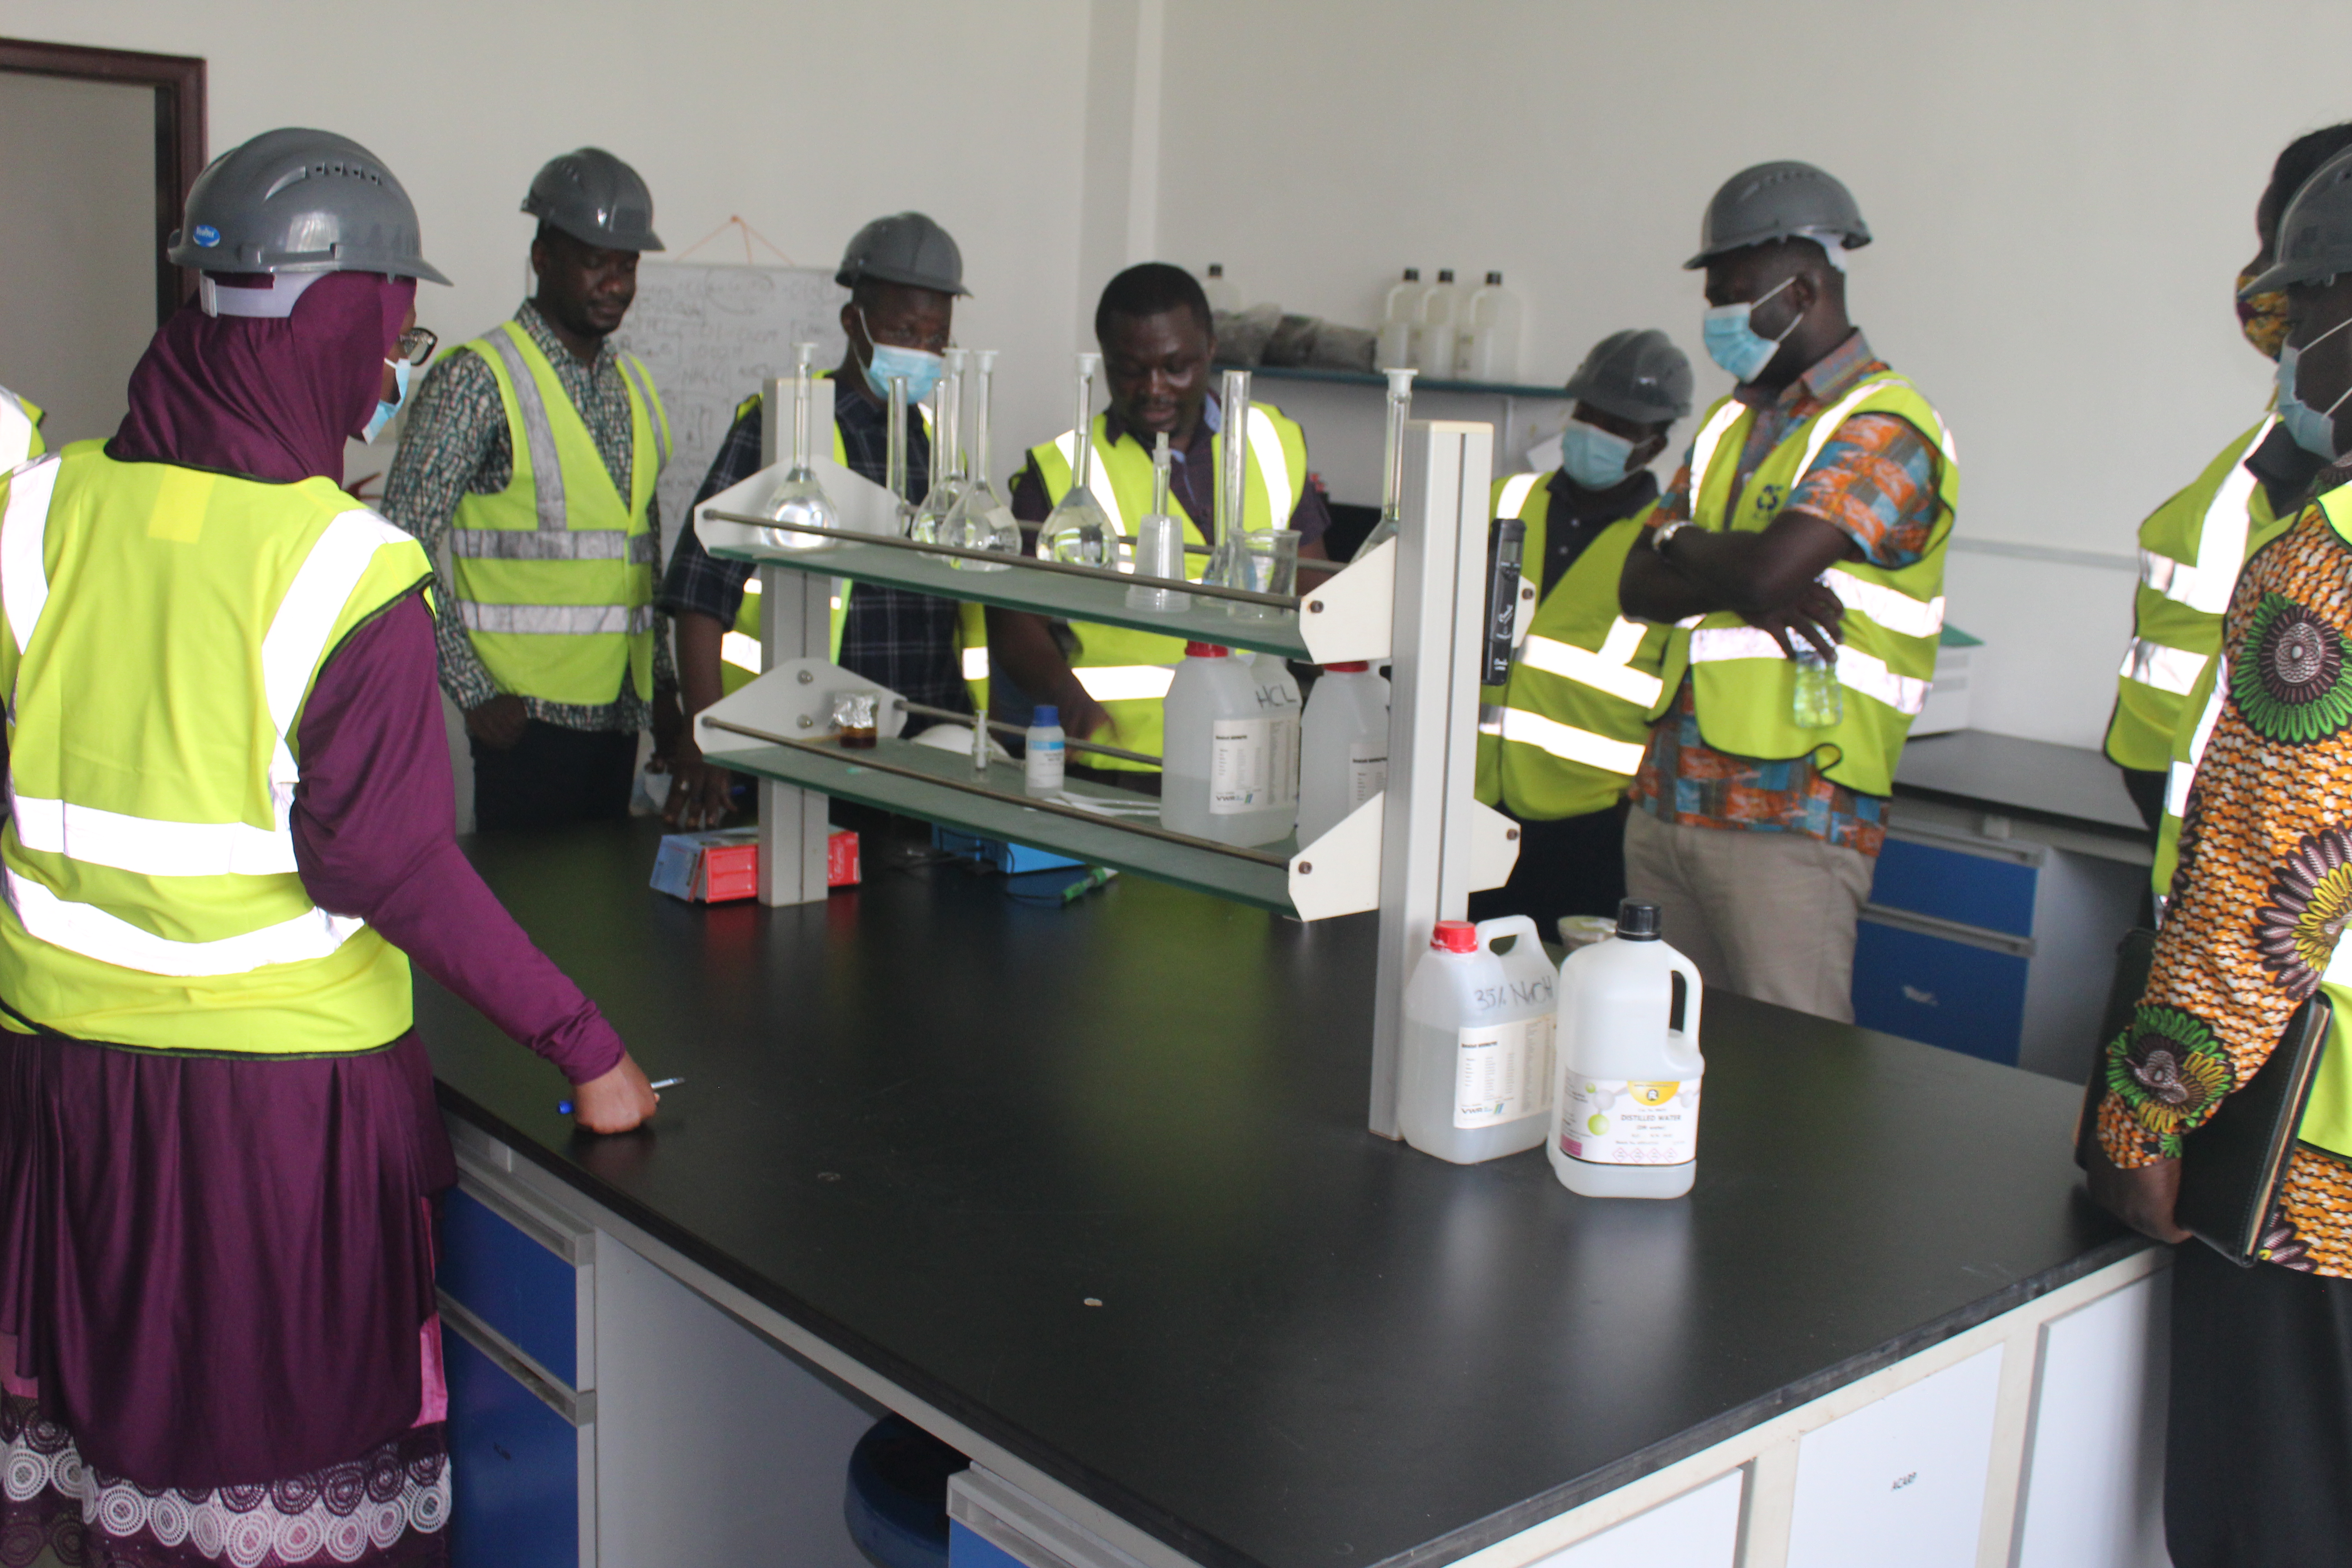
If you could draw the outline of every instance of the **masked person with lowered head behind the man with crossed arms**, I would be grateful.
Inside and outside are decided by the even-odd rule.
[[[1519,863],[1470,896],[1470,919],[1545,933],[1625,898],[1623,799],[1668,635],[1618,614],[1618,576],[1658,505],[1649,465],[1691,411],[1691,362],[1663,331],[1611,331],[1566,390],[1559,468],[1494,487],[1494,515],[1526,524],[1526,567],[1510,677],[1479,693],[1477,797],[1519,823]]]

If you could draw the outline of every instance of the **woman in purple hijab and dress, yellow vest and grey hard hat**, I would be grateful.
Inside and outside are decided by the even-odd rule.
[[[407,193],[270,132],[172,259],[205,284],[115,437],[0,480],[0,1561],[442,1563],[456,1171],[407,961],[583,1128],[656,1095],[459,853],[423,555],[336,489],[430,353]],[[181,773],[261,804],[108,797]]]

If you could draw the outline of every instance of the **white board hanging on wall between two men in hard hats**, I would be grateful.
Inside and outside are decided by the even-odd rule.
[[[818,369],[842,362],[842,303],[830,268],[647,261],[637,303],[614,343],[644,360],[670,411],[670,465],[661,475],[663,548],[717,456],[739,402],[767,376],[793,374],[795,343],[816,343]]]

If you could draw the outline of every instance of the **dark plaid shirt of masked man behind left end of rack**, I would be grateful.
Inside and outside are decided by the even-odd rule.
[[[856,475],[882,484],[889,475],[889,409],[849,378],[835,378],[833,428],[842,437],[842,456]],[[720,451],[710,458],[694,505],[760,473],[760,400],[734,421]],[[906,414],[906,487],[922,496],[931,489],[931,435],[922,414]],[[731,628],[750,583],[746,562],[722,562],[703,550],[689,522],[677,538],[677,555],[661,581],[661,609],[677,616],[696,611]],[[964,691],[960,654],[960,604],[927,592],[851,583],[842,618],[842,668],[889,686],[910,703],[929,703],[953,712],[971,712]]]

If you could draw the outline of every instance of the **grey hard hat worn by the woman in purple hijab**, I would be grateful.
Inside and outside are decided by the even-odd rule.
[[[195,176],[165,252],[205,273],[386,273],[449,282],[423,259],[416,202],[334,132],[261,132]]]

